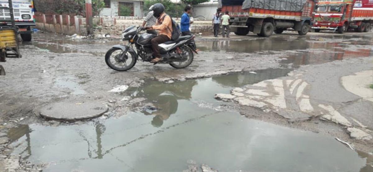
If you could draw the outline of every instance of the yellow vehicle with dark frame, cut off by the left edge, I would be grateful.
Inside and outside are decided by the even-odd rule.
[[[10,19],[0,18],[0,62],[6,62],[6,57],[20,58],[18,27],[15,25],[12,0],[8,0],[8,7],[0,6],[0,15],[9,10]],[[6,16],[6,15],[4,15]],[[10,23],[10,25],[9,25]],[[0,75],[5,75],[3,66],[0,65]]]

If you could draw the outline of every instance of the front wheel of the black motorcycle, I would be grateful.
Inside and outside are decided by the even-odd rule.
[[[127,71],[134,67],[136,64],[136,54],[127,51],[123,59],[121,59],[123,53],[122,49],[111,48],[105,55],[106,65],[116,71]]]

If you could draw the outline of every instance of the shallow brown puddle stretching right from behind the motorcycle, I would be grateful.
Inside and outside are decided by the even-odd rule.
[[[282,65],[319,64],[354,57],[373,55],[373,37],[369,36],[307,36],[274,37],[256,40],[197,41],[203,51],[227,53],[281,54]]]

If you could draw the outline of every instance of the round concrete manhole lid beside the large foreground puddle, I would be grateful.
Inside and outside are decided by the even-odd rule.
[[[42,107],[40,116],[47,119],[76,121],[96,118],[108,110],[109,108],[98,101],[61,101]]]

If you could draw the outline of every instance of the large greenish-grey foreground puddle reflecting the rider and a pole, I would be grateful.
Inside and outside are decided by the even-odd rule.
[[[47,164],[46,172],[183,171],[188,160],[227,172],[367,168],[365,158],[334,138],[247,119],[213,98],[289,69],[256,72],[173,84],[149,81],[124,94],[147,97],[158,110],[81,125],[20,125],[9,131],[13,153]]]

